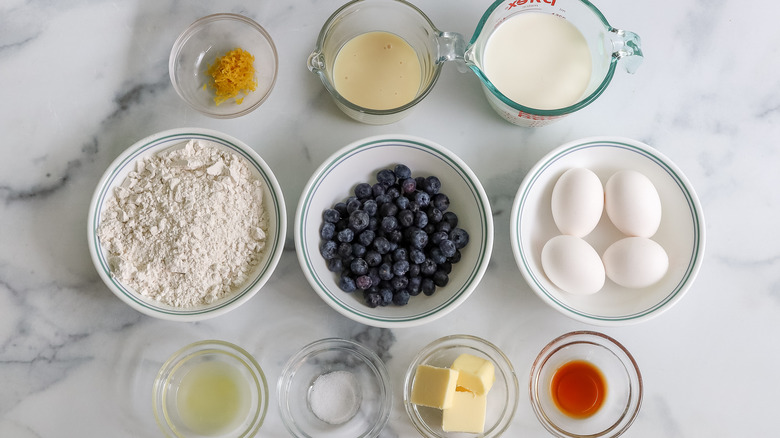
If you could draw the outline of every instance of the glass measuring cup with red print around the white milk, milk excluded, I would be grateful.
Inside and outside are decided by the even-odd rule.
[[[526,13],[565,19],[585,37],[591,56],[591,75],[576,103],[556,109],[527,107],[504,95],[485,74],[485,47],[490,37],[501,24],[517,14]],[[515,125],[533,127],[547,125],[596,100],[612,80],[618,62],[628,73],[634,73],[641,64],[642,49],[638,35],[610,26],[604,15],[587,0],[497,0],[482,16],[463,60],[482,81],[488,102],[499,115]]]

